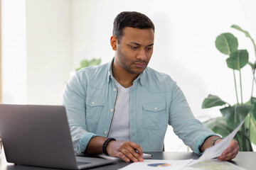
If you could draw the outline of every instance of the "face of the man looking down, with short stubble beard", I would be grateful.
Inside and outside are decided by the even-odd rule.
[[[152,29],[126,27],[115,53],[115,60],[126,72],[140,74],[146,69],[153,53]]]

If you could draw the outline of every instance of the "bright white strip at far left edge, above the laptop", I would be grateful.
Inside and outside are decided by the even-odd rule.
[[[25,0],[1,0],[3,103],[26,103]]]

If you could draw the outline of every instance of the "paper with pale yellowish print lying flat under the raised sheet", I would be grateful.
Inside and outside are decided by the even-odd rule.
[[[192,161],[194,162],[194,161]],[[194,164],[193,166],[186,166],[182,170],[213,170],[213,169],[221,169],[221,170],[245,170],[240,166],[232,164],[230,162],[223,162],[218,159],[211,159],[209,161],[200,162],[198,164]]]

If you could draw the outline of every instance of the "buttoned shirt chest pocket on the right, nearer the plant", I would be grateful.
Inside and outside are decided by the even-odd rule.
[[[145,103],[143,105],[144,128],[160,130],[167,124],[166,103]]]

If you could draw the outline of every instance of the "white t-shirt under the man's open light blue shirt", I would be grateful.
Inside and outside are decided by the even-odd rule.
[[[114,106],[114,115],[108,137],[116,140],[130,140],[129,131],[129,94],[132,86],[124,88],[114,79],[117,86],[117,101]]]

